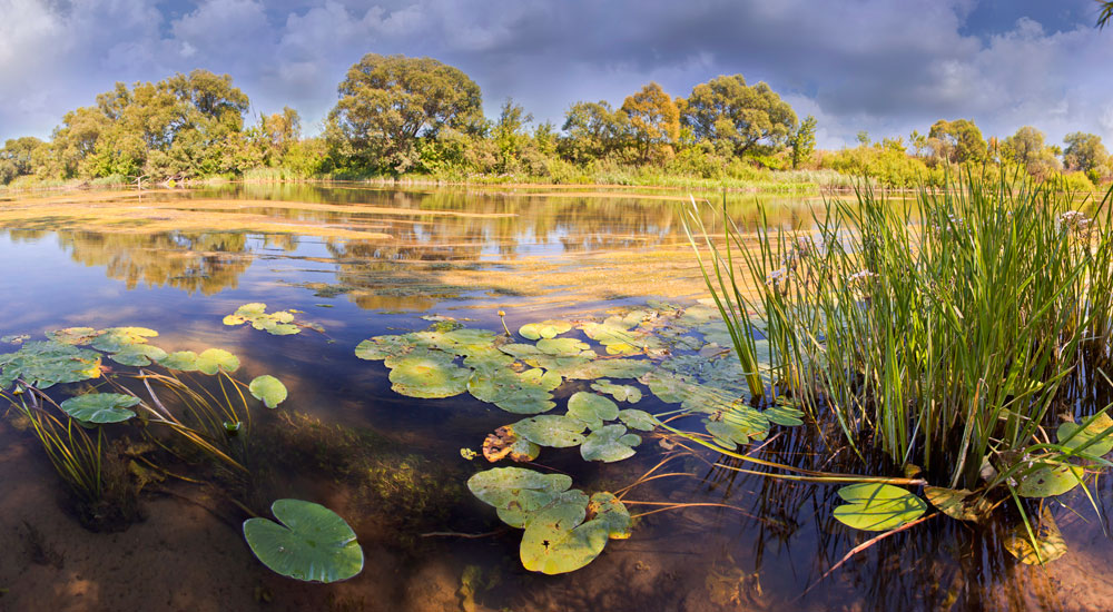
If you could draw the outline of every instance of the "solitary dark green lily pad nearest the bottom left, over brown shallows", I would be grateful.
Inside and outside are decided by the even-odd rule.
[[[335,512],[302,500],[270,505],[279,523],[244,521],[244,537],[255,556],[275,573],[306,582],[337,582],[363,570],[355,532]]]

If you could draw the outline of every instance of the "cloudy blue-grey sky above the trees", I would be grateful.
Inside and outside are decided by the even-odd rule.
[[[673,96],[719,75],[765,81],[823,148],[973,119],[1113,145],[1113,28],[1094,0],[0,0],[0,141],[48,138],[116,81],[229,73],[252,115],[321,130],[368,52],[467,73],[494,118],[508,97],[558,127],[580,100],[650,81]]]

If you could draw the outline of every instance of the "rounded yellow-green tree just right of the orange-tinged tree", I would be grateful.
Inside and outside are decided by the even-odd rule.
[[[765,82],[747,86],[741,75],[696,86],[681,106],[681,119],[697,139],[728,141],[738,156],[759,144],[779,149],[796,129],[792,107]]]

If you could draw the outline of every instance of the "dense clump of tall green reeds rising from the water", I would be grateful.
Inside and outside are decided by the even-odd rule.
[[[686,216],[707,238],[743,369],[758,362],[747,338],[770,340],[764,395],[797,395],[855,448],[875,444],[952,487],[974,487],[987,465],[1015,475],[1055,450],[1058,413],[1102,408],[1092,389],[1111,356],[1113,190],[1094,203],[967,176],[912,204],[856,196],[827,201],[809,234],[743,238],[723,216],[711,238],[695,203]]]

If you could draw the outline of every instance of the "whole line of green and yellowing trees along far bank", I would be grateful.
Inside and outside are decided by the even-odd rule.
[[[228,75],[194,70],[157,83],[117,83],[95,105],[67,112],[49,140],[4,142],[0,184],[245,175],[583,182],[623,171],[746,180],[826,169],[912,187],[939,182],[948,168],[964,164],[1015,167],[1040,179],[1066,176],[1083,187],[1113,176],[1113,160],[1096,135],[1071,134],[1060,147],[1026,126],[986,139],[968,119],[939,120],[907,140],[874,142],[860,132],[855,148],[819,151],[816,119],[800,120],[767,83],[749,85],[742,75],[697,85],[687,98],[650,82],[618,108],[578,101],[559,128],[534,125],[512,99],[487,119],[480,87],[430,58],[368,53],[337,92],[323,134],[304,138],[301,118],[288,107],[247,125],[250,102]]]

